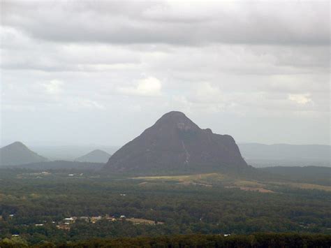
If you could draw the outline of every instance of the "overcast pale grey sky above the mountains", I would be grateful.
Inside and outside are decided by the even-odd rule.
[[[170,110],[330,144],[328,1],[1,1],[1,143],[124,145]]]

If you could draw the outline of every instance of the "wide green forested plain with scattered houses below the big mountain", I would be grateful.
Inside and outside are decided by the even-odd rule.
[[[331,234],[330,191],[270,184],[261,193],[224,186],[229,180],[212,177],[203,184],[177,177],[1,170],[1,242],[61,245],[160,235]],[[65,223],[66,218],[73,219]]]

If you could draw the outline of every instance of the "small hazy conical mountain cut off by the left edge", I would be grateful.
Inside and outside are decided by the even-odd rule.
[[[26,145],[15,142],[0,149],[0,166],[13,166],[25,163],[47,161],[43,156],[32,152]]]

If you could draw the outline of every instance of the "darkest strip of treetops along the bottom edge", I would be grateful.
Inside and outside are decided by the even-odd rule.
[[[331,235],[295,233],[254,233],[251,235],[173,235],[155,238],[117,238],[66,242],[56,247],[330,247]],[[29,247],[19,238],[0,240],[0,247]],[[52,242],[43,242],[31,247],[55,247]]]

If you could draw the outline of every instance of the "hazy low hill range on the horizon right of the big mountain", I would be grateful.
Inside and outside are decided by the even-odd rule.
[[[330,145],[238,144],[252,166],[331,166]]]

